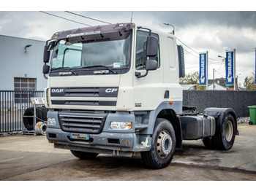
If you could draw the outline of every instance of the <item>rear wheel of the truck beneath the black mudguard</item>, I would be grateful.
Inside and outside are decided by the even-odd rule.
[[[229,150],[233,147],[236,136],[236,122],[231,114],[222,122],[220,133],[212,138],[203,139],[203,144],[208,149]]]

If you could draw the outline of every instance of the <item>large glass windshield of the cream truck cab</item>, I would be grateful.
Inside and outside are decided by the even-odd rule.
[[[127,69],[130,63],[131,35],[126,39],[91,39],[72,42],[62,39],[54,48],[50,70],[107,67]]]

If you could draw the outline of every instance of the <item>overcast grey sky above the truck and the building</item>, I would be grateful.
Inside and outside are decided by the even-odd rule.
[[[146,7],[143,7],[143,10],[140,10],[140,6],[127,6],[127,8],[124,8],[125,6],[123,5],[120,8],[121,11],[119,11],[118,7],[115,9],[111,8],[111,6],[104,8],[101,3],[103,2],[104,4],[104,2],[107,2],[106,0],[97,1],[99,2],[99,9],[94,5],[90,5],[94,7],[94,11],[91,11],[90,6],[89,8],[87,7],[88,10],[85,8],[86,11],[72,11],[72,9],[79,9],[79,7],[69,7],[69,5],[53,11],[49,7],[48,9],[45,8],[48,4],[51,4],[50,1],[43,2],[45,2],[43,6],[37,7],[37,5],[34,5],[29,11],[23,8],[13,9],[12,4],[10,4],[10,7],[1,8],[0,34],[46,41],[56,31],[86,27],[83,24],[90,26],[105,25],[105,23],[86,17],[108,23],[127,23],[130,22],[132,16],[132,23],[141,26],[152,26],[167,32],[172,31],[173,28],[165,26],[163,23],[170,23],[175,27],[177,42],[184,47],[186,74],[199,70],[198,53],[208,51],[208,79],[213,78],[213,69],[215,69],[215,78],[225,77],[225,63],[218,55],[225,57],[225,50],[233,49],[236,49],[238,84],[241,83],[243,85],[244,78],[252,76],[252,71],[255,69],[256,12],[253,10],[244,11],[244,7],[239,7],[239,5],[235,6],[236,10],[234,11],[232,9],[225,11],[229,4],[218,7],[215,4],[214,8],[216,10],[214,11],[208,7],[197,9],[195,4],[192,5],[194,9],[197,9],[195,11],[182,7],[182,4],[178,10],[174,9],[172,4],[167,4],[166,7],[165,5],[157,7],[157,10],[152,8],[152,4],[147,4]],[[211,1],[208,2],[211,4]],[[222,3],[221,1],[218,2]],[[246,3],[246,1],[244,2]],[[55,7],[58,6],[56,5]],[[53,9],[54,6],[50,8]],[[248,6],[246,9],[248,9]],[[251,8],[249,7],[249,9]],[[40,10],[43,10],[43,12],[39,12]],[[73,15],[64,10],[86,17]],[[52,15],[48,15],[45,12]],[[54,17],[53,15],[59,17]]]

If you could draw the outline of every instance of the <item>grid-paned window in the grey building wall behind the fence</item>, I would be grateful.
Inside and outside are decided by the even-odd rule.
[[[36,90],[35,78],[14,78],[15,104],[29,103]]]

